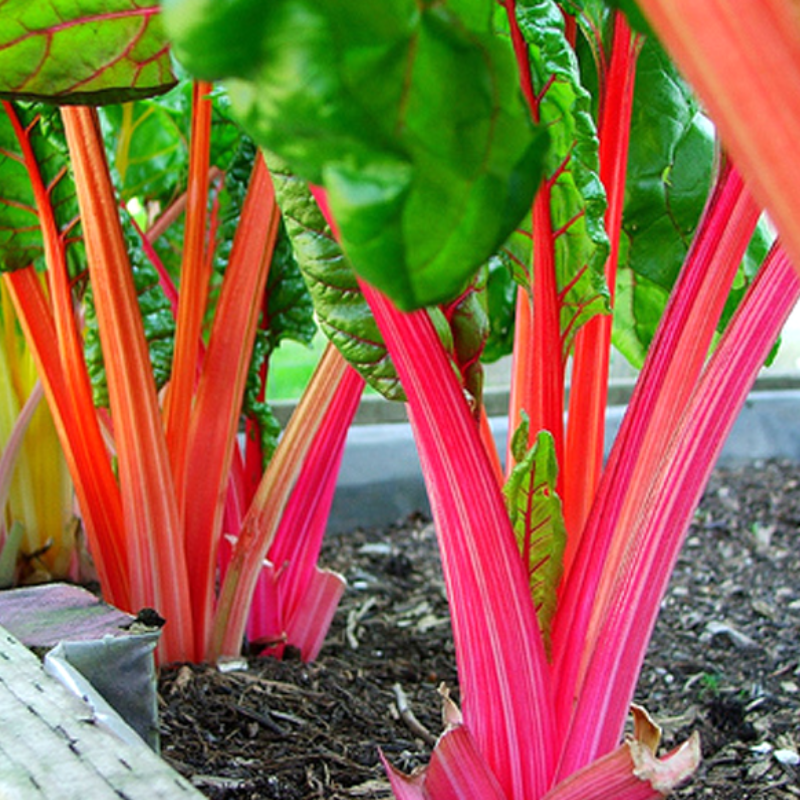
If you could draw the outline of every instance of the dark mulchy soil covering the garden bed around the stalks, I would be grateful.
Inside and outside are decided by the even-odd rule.
[[[666,747],[700,732],[679,797],[800,797],[798,530],[800,466],[714,474],[636,697]],[[208,797],[389,798],[379,746],[405,770],[428,760],[437,687],[456,686],[432,526],[336,537],[322,563],[349,588],[316,663],[162,673],[163,755]]]

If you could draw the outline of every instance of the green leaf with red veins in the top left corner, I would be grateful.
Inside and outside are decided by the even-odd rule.
[[[98,105],[175,84],[157,3],[5,0],[0,97]]]

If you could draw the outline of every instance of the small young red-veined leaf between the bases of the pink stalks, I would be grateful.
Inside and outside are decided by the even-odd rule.
[[[503,489],[511,525],[531,587],[545,647],[550,650],[550,626],[556,610],[556,590],[563,570],[567,532],[556,494],[556,463],[553,437],[541,431],[526,450],[528,422],[514,434],[512,450],[516,466]]]

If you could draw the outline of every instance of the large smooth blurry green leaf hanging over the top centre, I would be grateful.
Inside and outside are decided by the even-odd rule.
[[[545,136],[483,0],[168,0],[185,66],[231,79],[256,141],[324,185],[356,271],[451,300],[530,206]]]

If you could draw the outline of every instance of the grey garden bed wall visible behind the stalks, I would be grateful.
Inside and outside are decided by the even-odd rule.
[[[606,450],[625,408],[609,409]],[[492,419],[500,452],[507,420]],[[727,466],[752,459],[788,458],[800,462],[800,391],[756,391],[747,400],[719,459]],[[348,434],[329,530],[376,527],[409,514],[429,513],[411,428],[405,423],[358,425]]]

